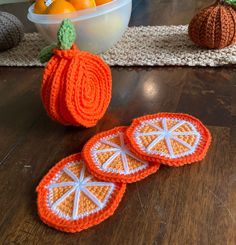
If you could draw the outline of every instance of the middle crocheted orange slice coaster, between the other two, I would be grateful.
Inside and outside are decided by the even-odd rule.
[[[88,170],[96,177],[114,182],[132,183],[155,173],[160,165],[135,156],[124,143],[127,127],[117,127],[91,138],[82,154]]]

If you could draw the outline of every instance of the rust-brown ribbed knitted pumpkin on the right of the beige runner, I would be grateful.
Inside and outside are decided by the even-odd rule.
[[[236,0],[218,0],[201,10],[189,24],[189,37],[199,46],[219,49],[236,41]]]

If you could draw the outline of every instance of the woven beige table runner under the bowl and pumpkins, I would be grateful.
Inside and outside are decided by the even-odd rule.
[[[45,45],[40,34],[25,34],[18,47],[0,53],[0,66],[43,66],[37,56]],[[236,64],[236,45],[206,50],[189,40],[187,26],[140,26],[128,28],[123,38],[101,57],[111,66],[214,67]]]

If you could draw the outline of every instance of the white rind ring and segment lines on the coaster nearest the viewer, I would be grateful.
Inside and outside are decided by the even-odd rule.
[[[82,164],[82,169],[79,177],[69,169],[69,167],[74,166],[76,164]],[[85,170],[86,167],[83,161],[70,162],[61,170],[61,172],[59,172],[52,179],[51,183],[46,187],[49,189],[48,205],[51,208],[51,210],[59,217],[64,218],[66,220],[71,220],[71,219],[77,220],[79,218],[86,217],[92,213],[96,213],[101,209],[103,209],[106,206],[108,200],[110,199],[115,189],[115,184],[110,182],[94,181],[93,180],[94,177],[92,175],[85,177]],[[63,173],[67,174],[73,181],[57,183],[58,179],[61,177]],[[98,191],[99,191],[99,187],[101,188],[109,187],[109,191],[106,193],[106,196],[102,202],[92,192],[89,191],[88,187],[91,186],[96,186],[98,188]],[[58,200],[53,202],[52,200],[53,189],[58,187],[71,187],[71,188],[68,191],[66,191]],[[97,208],[91,211],[78,214],[81,193],[83,193],[86,197],[88,197],[97,206]],[[58,205],[63,201],[65,201],[65,199],[67,199],[72,194],[74,194],[73,212],[72,215],[69,216],[68,214],[65,214],[61,210],[59,210]]]

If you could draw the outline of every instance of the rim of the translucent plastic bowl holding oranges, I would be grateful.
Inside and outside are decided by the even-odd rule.
[[[92,19],[94,17],[113,12],[125,5],[128,5],[132,0],[113,0],[111,2],[96,6],[94,8],[78,10],[68,14],[35,14],[32,4],[28,8],[27,18],[36,24],[58,24],[63,19],[70,19],[72,22]],[[45,18],[46,17],[46,18]]]

